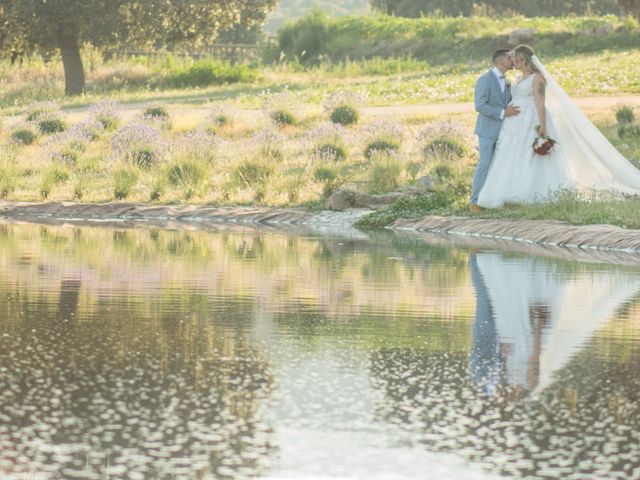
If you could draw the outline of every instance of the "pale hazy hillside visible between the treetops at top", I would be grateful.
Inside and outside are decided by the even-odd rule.
[[[297,20],[313,8],[330,16],[344,16],[370,12],[369,0],[280,0],[267,19],[265,30],[276,33],[287,20]]]

